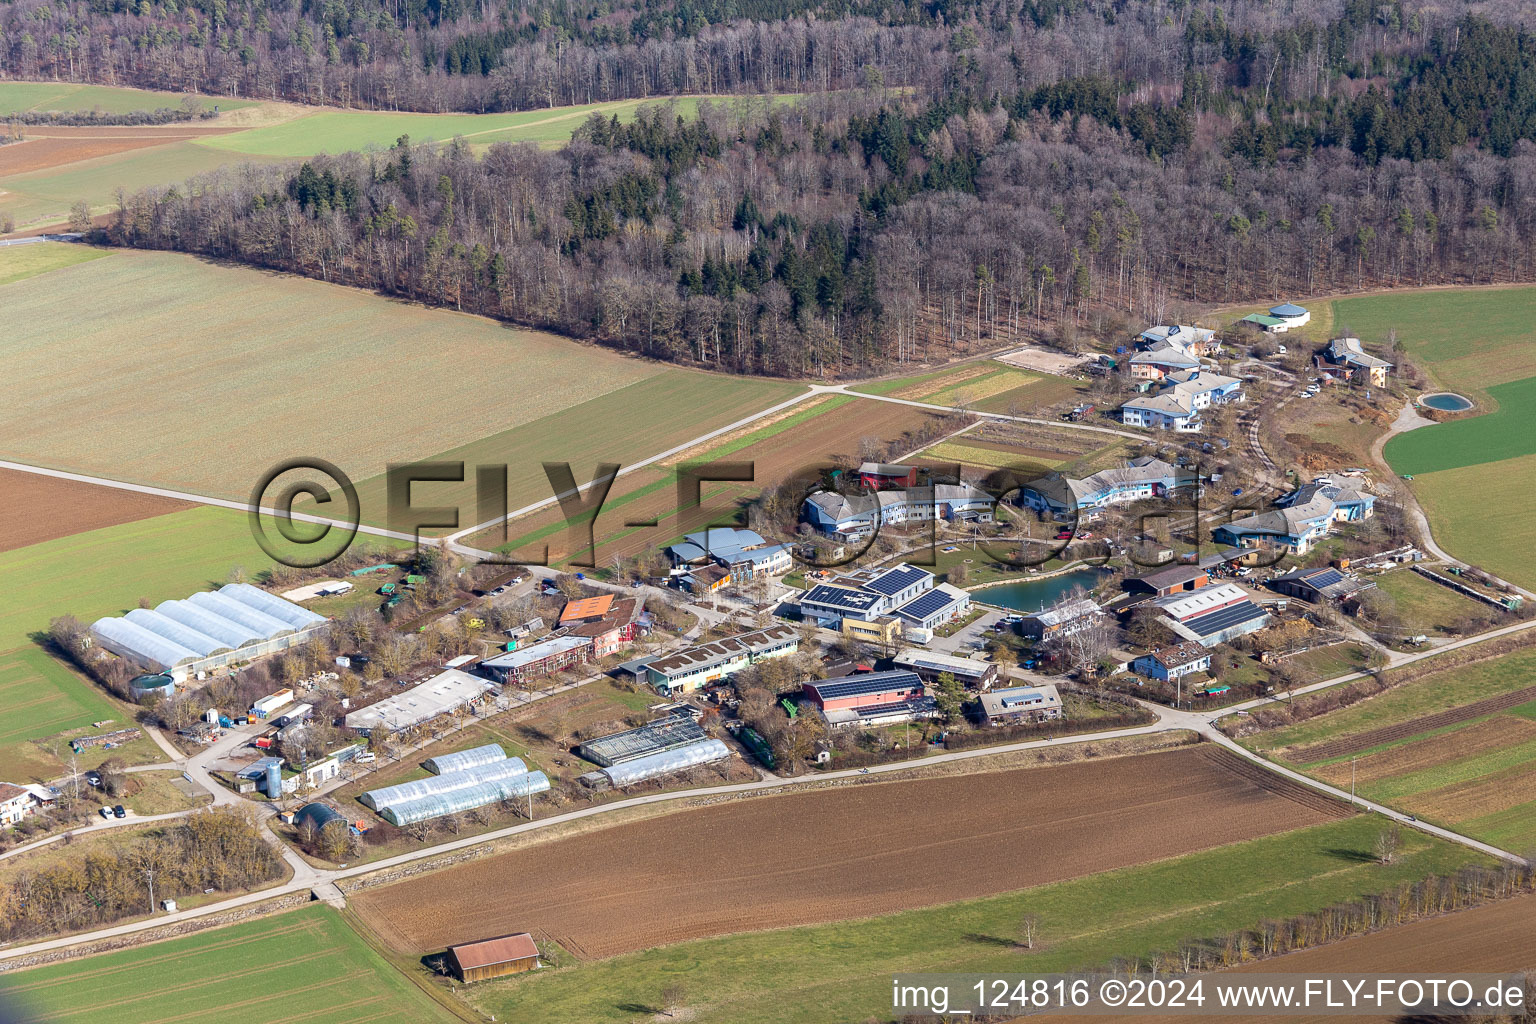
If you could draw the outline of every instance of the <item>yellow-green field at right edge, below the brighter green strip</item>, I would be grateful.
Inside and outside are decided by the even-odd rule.
[[[1458,559],[1536,586],[1536,454],[1415,476],[1435,540]]]

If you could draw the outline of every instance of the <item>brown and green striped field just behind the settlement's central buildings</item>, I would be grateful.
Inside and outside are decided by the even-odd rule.
[[[759,491],[797,473],[834,459],[857,461],[863,438],[897,439],[932,419],[931,413],[909,405],[842,395],[808,399],[616,481],[593,525],[596,553],[585,547],[585,524],[591,519],[579,519],[578,530],[571,531],[553,507],[508,524],[505,537],[493,530],[475,542],[521,557],[542,557],[548,545],[551,563],[581,554],[584,562],[607,565],[614,556],[634,556],[711,522],[727,522]],[[754,479],[750,484],[703,482],[699,507],[679,510],[679,467],[697,462],[750,462]],[[627,525],[653,519],[656,527]]]

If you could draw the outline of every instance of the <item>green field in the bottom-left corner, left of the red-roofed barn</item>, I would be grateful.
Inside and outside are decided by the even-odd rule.
[[[0,975],[20,1024],[427,1024],[456,1018],[326,906]]]

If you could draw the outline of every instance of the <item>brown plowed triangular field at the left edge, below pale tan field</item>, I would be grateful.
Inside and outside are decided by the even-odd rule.
[[[190,508],[187,502],[0,470],[0,551]]]

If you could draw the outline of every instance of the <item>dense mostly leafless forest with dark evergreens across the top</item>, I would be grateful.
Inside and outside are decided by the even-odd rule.
[[[1536,270],[1536,37],[1487,5],[372,3],[0,0],[0,68],[424,109],[799,92],[227,169],[111,229],[743,373]]]

